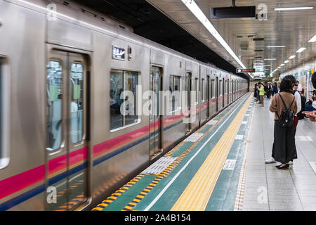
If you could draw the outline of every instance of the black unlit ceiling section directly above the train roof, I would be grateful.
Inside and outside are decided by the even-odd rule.
[[[209,34],[204,34],[204,39],[197,35],[192,35],[195,34],[192,30],[183,29],[184,27],[181,24],[174,23],[170,15],[167,16],[166,13],[162,13],[160,9],[155,8],[145,0],[75,1],[130,25],[133,27],[135,34],[180,51],[192,58],[197,58],[204,63],[211,63],[228,72],[236,72],[238,65],[234,60],[223,57],[225,54],[216,52],[217,49],[209,48],[208,42],[205,41],[209,39]],[[173,4],[176,5],[179,2],[182,4],[181,1],[173,1]],[[165,1],[165,3],[169,3],[169,1]],[[192,14],[190,17],[192,17]],[[190,22],[195,23],[196,21],[192,17]],[[249,79],[244,74],[238,75]]]

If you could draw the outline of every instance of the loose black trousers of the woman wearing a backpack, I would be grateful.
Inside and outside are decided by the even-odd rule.
[[[279,126],[279,121],[275,120],[275,141],[272,146],[272,157],[282,164],[297,159],[294,125],[282,128]]]

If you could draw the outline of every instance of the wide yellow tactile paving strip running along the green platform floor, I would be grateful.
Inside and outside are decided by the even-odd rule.
[[[190,181],[190,184],[185,188],[185,191],[180,195],[171,211],[204,211],[211,193],[216,185],[218,176],[220,175],[225,160],[230,152],[230,148],[235,141],[235,136],[239,130],[244,115],[249,107],[252,96],[249,96],[246,103],[243,105],[235,119],[232,121],[228,129],[220,138],[216,146],[199,168],[197,174]]]

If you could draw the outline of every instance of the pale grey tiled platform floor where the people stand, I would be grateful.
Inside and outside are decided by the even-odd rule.
[[[264,164],[273,142],[270,101],[254,108],[246,163],[246,190],[242,210],[316,210],[316,123],[299,120],[296,131],[298,159],[288,170]]]

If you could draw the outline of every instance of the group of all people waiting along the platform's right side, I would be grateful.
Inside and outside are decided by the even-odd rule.
[[[316,72],[312,74],[312,85],[316,89]],[[293,75],[287,75],[281,82],[258,82],[254,85],[255,101],[264,107],[265,98],[273,96],[270,112],[275,113],[274,142],[272,156],[265,163],[277,162],[277,169],[288,169],[289,164],[297,159],[295,134],[299,120],[309,117],[316,122],[316,90],[306,102],[303,86]]]

